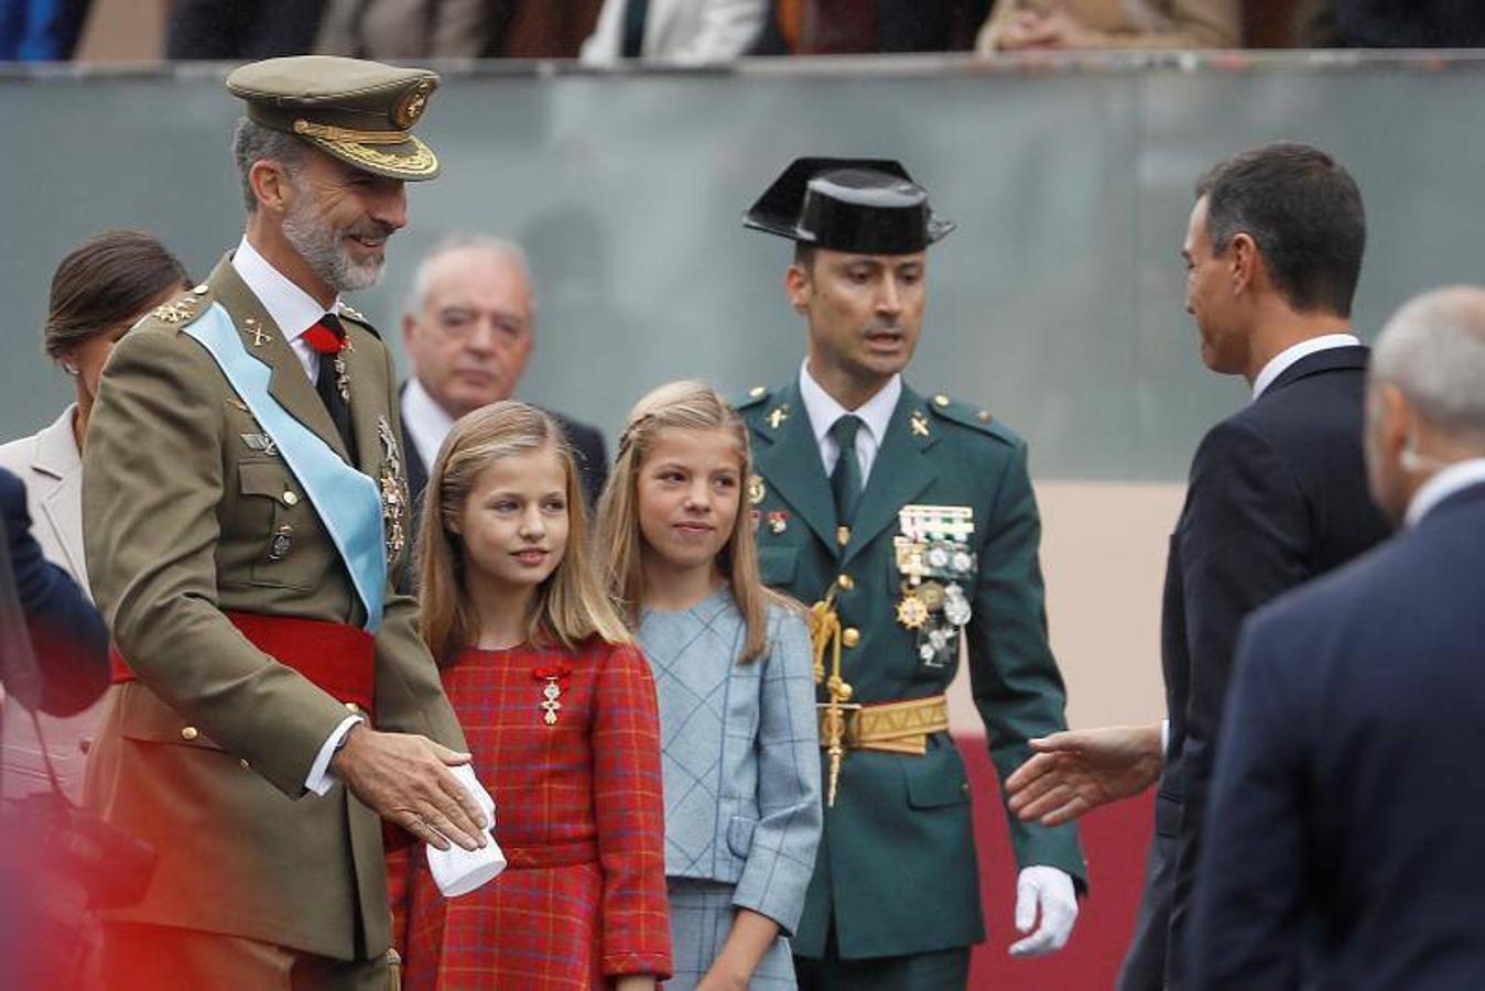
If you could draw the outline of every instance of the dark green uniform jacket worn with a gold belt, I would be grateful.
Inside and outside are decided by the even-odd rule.
[[[836,586],[842,675],[852,702],[936,696],[953,679],[958,650],[925,663],[919,631],[897,619],[904,576],[892,540],[903,506],[968,507],[976,562],[959,582],[973,610],[962,635],[1001,777],[1026,760],[1028,737],[1065,728],[1025,442],[973,406],[946,396],[927,402],[904,386],[842,546],[797,381],[754,389],[740,412],[762,481],[750,498],[763,580],[806,605]],[[818,697],[826,700],[823,688]],[[823,770],[829,779],[827,763]],[[1084,884],[1072,826],[1026,825],[1008,813],[1007,822],[1022,866],[1050,865]],[[794,952],[823,957],[832,920],[843,958],[930,952],[985,938],[970,786],[947,733],[933,734],[922,757],[846,752]]]

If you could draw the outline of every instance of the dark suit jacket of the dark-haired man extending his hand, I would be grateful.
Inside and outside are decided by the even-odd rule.
[[[1365,347],[1339,347],[1295,362],[1215,426],[1191,466],[1161,631],[1170,743],[1155,816],[1157,829],[1175,837],[1173,880],[1145,895],[1172,903],[1164,976],[1176,991],[1185,987],[1187,912],[1238,628],[1387,534],[1362,464],[1366,359]]]

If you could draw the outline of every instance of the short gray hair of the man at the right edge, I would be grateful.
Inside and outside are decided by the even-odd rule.
[[[1377,338],[1371,374],[1429,424],[1485,442],[1485,289],[1433,289],[1406,303]]]

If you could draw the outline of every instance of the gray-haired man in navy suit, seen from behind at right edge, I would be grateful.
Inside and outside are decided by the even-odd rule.
[[[1371,490],[1402,533],[1244,626],[1197,988],[1452,991],[1485,973],[1485,291],[1393,317],[1366,414]]]

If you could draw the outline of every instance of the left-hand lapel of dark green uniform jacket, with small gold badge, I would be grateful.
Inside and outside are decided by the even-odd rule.
[[[809,429],[809,412],[799,398],[797,381],[790,381],[774,393],[762,415],[753,421],[753,435],[757,438],[753,445],[757,473],[835,552],[836,521],[830,479],[820,463],[820,447]]]

